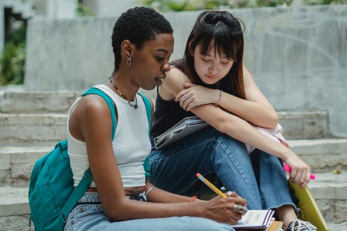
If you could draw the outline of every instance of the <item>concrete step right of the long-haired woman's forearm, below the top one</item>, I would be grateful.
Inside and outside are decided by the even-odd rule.
[[[314,173],[347,171],[347,139],[297,139],[289,146]]]

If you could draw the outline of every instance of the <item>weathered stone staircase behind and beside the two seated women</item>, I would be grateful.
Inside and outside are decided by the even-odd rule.
[[[33,164],[66,138],[67,110],[81,92],[0,92],[0,227],[28,227]],[[152,95],[153,97],[153,95]],[[330,230],[347,230],[347,139],[332,137],[328,112],[278,112],[284,135],[316,180],[310,182]],[[337,169],[341,173],[334,174]]]

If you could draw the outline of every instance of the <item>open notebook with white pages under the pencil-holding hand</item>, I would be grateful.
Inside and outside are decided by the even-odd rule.
[[[237,222],[237,225],[231,225],[235,230],[264,230],[271,224],[274,210],[248,210],[242,219]]]

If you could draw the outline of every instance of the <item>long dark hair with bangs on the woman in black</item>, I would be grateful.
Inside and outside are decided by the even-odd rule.
[[[228,11],[211,10],[202,12],[198,16],[188,37],[183,58],[185,73],[192,83],[206,86],[194,68],[193,53],[196,46],[200,45],[201,55],[208,55],[210,48],[214,46],[217,53],[233,60],[234,64],[229,73],[219,80],[217,86],[210,87],[223,89],[224,92],[246,99],[242,70],[244,35],[240,22],[242,23]]]

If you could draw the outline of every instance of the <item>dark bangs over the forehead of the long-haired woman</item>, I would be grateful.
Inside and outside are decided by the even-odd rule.
[[[207,28],[201,37],[200,53],[201,55],[209,55],[211,49],[214,49],[214,55],[220,55],[237,62],[237,51],[241,49],[243,35],[239,33],[230,33],[228,25],[221,22],[210,28]]]

